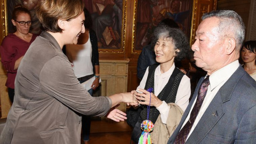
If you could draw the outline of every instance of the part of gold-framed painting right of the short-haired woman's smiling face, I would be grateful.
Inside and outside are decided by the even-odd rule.
[[[91,13],[99,52],[124,53],[127,0],[84,0]]]

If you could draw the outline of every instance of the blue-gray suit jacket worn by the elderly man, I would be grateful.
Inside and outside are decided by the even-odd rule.
[[[198,93],[201,78],[180,124],[168,143],[173,143]],[[239,66],[220,88],[186,143],[255,143],[256,82]]]

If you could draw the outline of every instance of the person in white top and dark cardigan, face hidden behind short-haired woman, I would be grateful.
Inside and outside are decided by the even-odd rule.
[[[91,84],[92,89],[88,90],[92,96],[93,90],[97,89],[100,81],[98,41],[95,31],[92,30],[91,15],[85,8],[84,15],[85,33],[79,36],[77,44],[66,45],[66,55],[69,61],[73,63],[75,75],[80,83],[95,77]],[[65,47],[62,50],[64,49]],[[85,144],[89,143],[90,127],[91,117],[83,115],[82,138]]]

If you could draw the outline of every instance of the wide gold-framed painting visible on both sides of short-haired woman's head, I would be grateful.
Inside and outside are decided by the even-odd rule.
[[[39,1],[44,0],[9,0],[7,3],[8,32],[14,33],[11,23],[12,11],[17,4],[26,7],[33,21],[30,32],[39,34],[40,23],[36,18],[35,8]],[[85,7],[91,13],[93,30],[97,34],[99,52],[123,53],[125,40],[126,3],[127,0],[83,0]]]

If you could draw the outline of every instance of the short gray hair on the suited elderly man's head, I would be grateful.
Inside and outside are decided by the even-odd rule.
[[[217,17],[220,36],[233,37],[236,41],[236,50],[239,52],[244,42],[245,26],[242,18],[235,11],[220,10],[205,13],[202,20]]]

